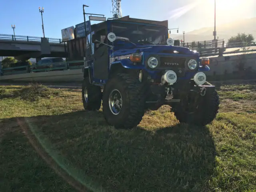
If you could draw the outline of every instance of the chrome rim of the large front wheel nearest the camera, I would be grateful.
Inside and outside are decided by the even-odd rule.
[[[114,115],[117,115],[120,113],[122,108],[122,96],[117,89],[114,89],[110,92],[109,98],[108,98],[108,104],[109,104],[110,111]]]

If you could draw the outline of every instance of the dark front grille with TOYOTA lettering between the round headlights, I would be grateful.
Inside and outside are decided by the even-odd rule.
[[[164,68],[185,68],[186,58],[160,57],[160,66]]]

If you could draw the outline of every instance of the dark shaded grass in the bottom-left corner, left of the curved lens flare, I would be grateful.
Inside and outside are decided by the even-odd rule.
[[[38,155],[16,118],[0,120],[0,146],[1,192],[74,192]]]

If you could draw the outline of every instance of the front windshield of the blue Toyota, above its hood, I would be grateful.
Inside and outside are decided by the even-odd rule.
[[[118,37],[128,38],[136,44],[166,44],[167,29],[164,26],[114,22],[110,32]]]

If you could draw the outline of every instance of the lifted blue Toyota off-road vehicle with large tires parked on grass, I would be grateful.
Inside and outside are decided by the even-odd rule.
[[[86,110],[99,110],[102,102],[108,124],[133,128],[145,110],[162,105],[188,124],[204,126],[216,117],[219,97],[204,73],[209,58],[174,46],[167,20],[107,20],[92,25],[87,38],[82,100]]]

